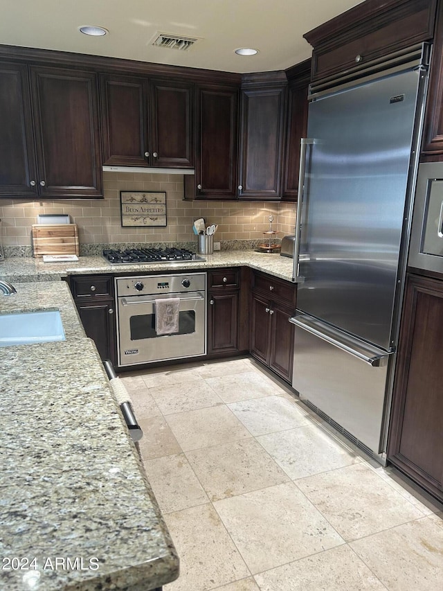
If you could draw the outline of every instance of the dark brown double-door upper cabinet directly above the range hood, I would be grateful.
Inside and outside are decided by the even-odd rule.
[[[194,166],[194,85],[100,76],[104,164]]]

